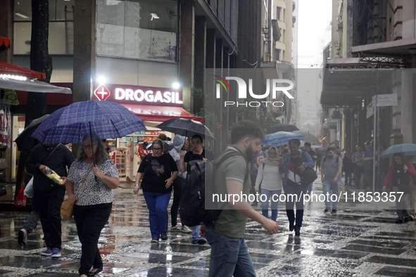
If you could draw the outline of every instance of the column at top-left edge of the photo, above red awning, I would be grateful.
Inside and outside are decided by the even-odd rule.
[[[13,0],[1,1],[0,8],[0,37],[11,39],[10,49],[0,53],[0,60],[12,63],[13,60]]]

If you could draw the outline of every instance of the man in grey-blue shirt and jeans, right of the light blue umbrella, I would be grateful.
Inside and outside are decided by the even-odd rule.
[[[335,155],[335,149],[327,148],[327,155],[322,157],[321,161],[321,181],[325,195],[325,210],[327,213],[332,210],[331,214],[338,212],[339,190],[341,188],[342,160],[339,155]],[[335,198],[332,195],[336,195]]]

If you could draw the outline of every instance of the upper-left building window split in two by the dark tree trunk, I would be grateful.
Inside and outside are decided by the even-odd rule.
[[[73,55],[74,1],[49,0],[49,54]],[[13,52],[30,55],[32,33],[32,1],[15,0]]]

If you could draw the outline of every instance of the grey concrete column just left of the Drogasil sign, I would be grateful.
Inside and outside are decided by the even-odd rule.
[[[96,1],[75,0],[73,102],[92,96],[96,72]]]

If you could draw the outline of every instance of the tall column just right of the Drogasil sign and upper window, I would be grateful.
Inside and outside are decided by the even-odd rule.
[[[179,14],[179,80],[182,84],[184,109],[194,112],[191,97],[194,86],[194,2],[181,1]]]

